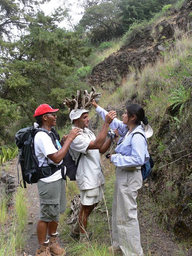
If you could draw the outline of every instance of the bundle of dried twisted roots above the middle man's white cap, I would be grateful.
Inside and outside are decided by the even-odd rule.
[[[67,105],[69,111],[77,109],[89,109],[91,107],[91,101],[100,97],[102,93],[97,93],[95,88],[92,87],[91,92],[88,94],[87,90],[84,90],[83,97],[81,97],[81,90],[77,90],[77,96],[71,94],[71,98],[65,98],[63,104]]]

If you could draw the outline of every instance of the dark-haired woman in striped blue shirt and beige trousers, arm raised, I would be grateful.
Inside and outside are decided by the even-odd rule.
[[[104,120],[107,111],[95,101],[92,105]],[[122,121],[115,118],[110,124],[113,130],[119,130],[121,137],[115,154],[109,155],[111,162],[116,165],[116,182],[112,205],[113,246],[108,249],[111,252],[121,250],[126,256],[143,255],[136,198],[142,186],[141,166],[149,160],[149,154],[141,121],[144,125],[148,124],[143,108],[131,103],[125,106]],[[136,132],[144,137],[139,133],[134,134]]]

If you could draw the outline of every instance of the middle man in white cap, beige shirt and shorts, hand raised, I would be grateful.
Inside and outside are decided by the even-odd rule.
[[[81,128],[80,135],[72,141],[70,154],[77,162],[80,156],[79,165],[76,173],[77,186],[80,189],[81,208],[78,221],[71,230],[70,235],[80,235],[80,242],[89,246],[86,234],[88,216],[99,200],[103,197],[104,176],[101,169],[101,159],[99,153],[104,153],[110,140],[106,140],[110,123],[117,116],[116,111],[110,111],[106,115],[101,132],[97,138],[88,129],[89,111],[85,109],[72,110],[70,113],[71,123],[74,127]]]

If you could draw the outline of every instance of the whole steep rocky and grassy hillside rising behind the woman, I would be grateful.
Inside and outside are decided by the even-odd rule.
[[[115,101],[118,97],[119,112],[123,102],[133,100],[145,107],[154,130],[148,142],[155,159],[150,195],[157,204],[156,218],[178,240],[190,240],[192,235],[192,54],[190,45],[183,50],[182,41],[184,38],[186,44],[191,41],[191,13],[192,1],[187,1],[180,10],[170,9],[170,15],[158,18],[155,23],[138,26],[126,35],[120,50],[93,68],[89,79],[91,85],[105,89],[113,81],[118,93],[121,92],[121,96],[113,92],[111,105],[105,106],[108,110],[118,108]],[[157,62],[161,67],[155,69]],[[136,70],[131,81],[130,66]],[[121,84],[117,74],[123,78]],[[145,88],[139,87],[142,79]],[[128,92],[130,85],[134,88],[132,94]],[[139,90],[148,92],[141,98]],[[143,195],[148,196],[145,188]]]

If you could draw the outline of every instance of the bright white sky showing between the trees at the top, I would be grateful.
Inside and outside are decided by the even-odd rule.
[[[72,4],[71,6],[71,10],[72,12],[70,12],[70,15],[72,16],[73,21],[72,24],[76,24],[80,21],[80,19],[82,18],[82,14],[78,14],[84,11],[84,9],[80,8],[79,6],[77,6],[77,3],[79,1],[77,0],[69,0],[69,2]],[[45,3],[43,5],[41,5],[41,9],[44,11],[45,15],[49,15],[53,12],[53,10],[59,6],[63,5],[63,0],[51,0],[49,3]],[[68,25],[67,20],[62,21],[61,23],[59,23],[59,27],[65,27],[67,29],[70,29],[70,26]]]

